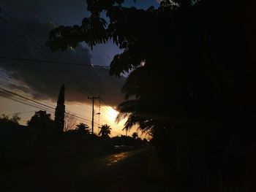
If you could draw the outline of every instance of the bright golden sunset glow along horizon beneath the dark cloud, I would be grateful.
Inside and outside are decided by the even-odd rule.
[[[47,102],[47,104],[52,104],[53,106],[56,105],[56,102],[53,101],[41,101],[41,102]],[[81,104],[81,103],[75,103],[75,102],[67,102],[66,105],[66,112],[78,115],[82,118],[85,118],[84,120],[77,119],[75,124],[78,123],[86,123],[89,127],[91,127],[91,104]],[[15,112],[20,112],[19,116],[21,118],[20,124],[26,125],[27,120],[29,120],[33,115],[34,112],[42,110],[35,107],[29,107],[25,104],[20,104],[16,101],[12,101],[10,99],[5,99],[0,96],[0,115],[5,113],[6,115],[12,115]],[[48,113],[51,114],[51,118],[54,119],[54,111],[53,110],[46,110]],[[121,136],[125,135],[126,131],[122,131],[124,128],[124,123],[127,119],[121,120],[119,123],[116,123],[116,116],[118,115],[118,112],[110,106],[102,106],[99,109],[98,105],[94,106],[94,112],[97,113],[100,111],[100,115],[94,115],[94,133],[98,133],[98,126],[108,124],[112,130],[111,130],[111,137],[115,136]],[[75,128],[75,127],[74,127]],[[132,135],[133,132],[138,132],[140,135],[140,131],[137,130],[137,128],[132,128],[128,131],[128,135]],[[143,136],[144,137],[144,136]]]

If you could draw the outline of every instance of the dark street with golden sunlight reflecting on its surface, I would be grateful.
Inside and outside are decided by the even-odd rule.
[[[2,172],[0,191],[169,191],[147,176],[151,147],[97,158],[66,158]]]

